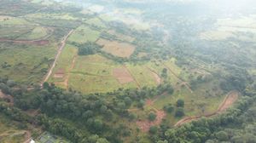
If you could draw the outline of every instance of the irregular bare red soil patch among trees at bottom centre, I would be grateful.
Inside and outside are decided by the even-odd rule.
[[[150,122],[148,120],[146,120],[146,121],[137,121],[136,122],[137,126],[140,129],[142,129],[143,132],[148,132],[150,127],[160,125],[160,123],[162,122],[162,119],[164,117],[166,117],[166,112],[156,110],[155,114],[156,114],[156,118],[155,118],[154,122]]]

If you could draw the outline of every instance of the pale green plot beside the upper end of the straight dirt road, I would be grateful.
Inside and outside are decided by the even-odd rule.
[[[86,43],[86,42],[95,42],[96,39],[100,36],[100,31],[91,30],[87,26],[79,26],[73,34],[68,37],[68,42],[75,43]]]

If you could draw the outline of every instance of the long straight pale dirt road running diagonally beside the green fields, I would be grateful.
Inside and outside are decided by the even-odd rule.
[[[61,41],[61,46],[59,47],[59,49],[58,49],[58,51],[57,51],[57,54],[55,55],[55,60],[54,60],[54,62],[53,62],[53,64],[52,64],[52,66],[50,67],[49,72],[48,72],[47,75],[44,77],[43,82],[41,83],[41,86],[43,86],[43,83],[45,83],[45,82],[49,79],[49,77],[50,77],[50,75],[51,75],[53,69],[54,69],[55,66],[56,66],[56,62],[57,62],[57,60],[58,60],[58,58],[59,58],[59,56],[60,56],[60,54],[61,54],[61,52],[62,52],[62,49],[63,49],[63,48],[65,47],[65,45],[66,45],[67,37],[69,37],[72,33],[73,33],[73,30],[69,31],[68,34],[67,34],[67,36],[64,37],[63,40]]]

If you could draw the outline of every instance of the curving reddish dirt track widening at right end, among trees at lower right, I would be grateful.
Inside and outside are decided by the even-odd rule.
[[[174,127],[179,127],[183,125],[184,123],[189,123],[191,121],[195,121],[200,119],[201,117],[212,117],[217,115],[218,113],[226,111],[232,104],[238,99],[238,92],[237,91],[230,91],[229,94],[226,95],[223,102],[218,106],[218,110],[215,112],[212,112],[210,114],[205,114],[201,116],[195,116],[195,117],[184,117],[183,119],[179,120]]]

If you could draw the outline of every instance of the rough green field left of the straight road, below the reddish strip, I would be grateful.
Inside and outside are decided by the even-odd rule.
[[[55,55],[55,45],[0,43],[0,76],[21,83],[39,83]]]

